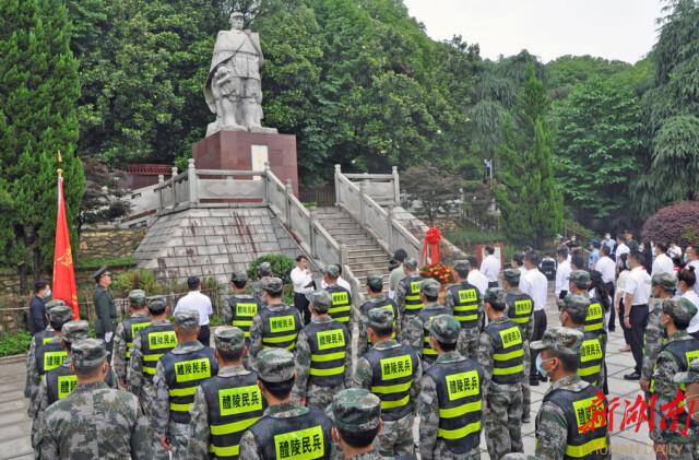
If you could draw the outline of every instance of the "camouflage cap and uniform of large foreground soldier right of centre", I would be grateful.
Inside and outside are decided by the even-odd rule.
[[[435,317],[430,322],[430,334],[442,343],[454,343],[458,341],[461,332],[461,325],[453,317],[449,315],[440,315]],[[440,394],[438,390],[438,382],[435,377],[435,370],[440,366],[453,366],[455,371],[463,371],[465,369],[473,368],[478,373],[478,392],[481,401],[478,404],[477,424],[478,429],[471,434],[473,436],[472,441],[475,444],[470,450],[464,453],[454,453],[450,450],[448,441],[439,435],[441,430],[440,424]],[[445,352],[441,353],[435,366],[429,373],[425,374],[422,379],[422,390],[419,392],[419,453],[423,460],[445,459],[445,460],[476,460],[481,458],[481,424],[483,420],[483,404],[485,398],[485,391],[481,385],[483,377],[483,369],[473,359],[463,357],[459,352]],[[448,390],[449,391],[449,390]],[[477,393],[476,393],[477,394]],[[474,396],[476,396],[474,394]],[[443,396],[442,396],[443,397]],[[451,400],[451,397],[449,397]],[[465,399],[455,399],[454,401],[464,402]],[[469,405],[469,404],[466,404]],[[465,440],[466,436],[462,437]]]

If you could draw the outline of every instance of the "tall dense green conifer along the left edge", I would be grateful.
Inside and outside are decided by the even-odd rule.
[[[51,266],[58,151],[69,223],[83,193],[75,156],[80,85],[70,35],[62,1],[0,3],[0,205],[11,210],[2,226],[12,229],[2,257],[19,268],[23,291],[27,267],[37,278]]]

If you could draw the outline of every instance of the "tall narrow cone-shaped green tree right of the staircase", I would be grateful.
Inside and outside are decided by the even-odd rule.
[[[562,226],[562,196],[554,180],[547,110],[543,83],[529,64],[514,114],[505,122],[494,191],[508,239],[534,247],[542,247]]]

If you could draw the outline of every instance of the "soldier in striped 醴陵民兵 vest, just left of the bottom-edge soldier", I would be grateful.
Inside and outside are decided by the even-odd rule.
[[[262,415],[258,376],[242,365],[247,355],[242,330],[217,329],[214,345],[218,375],[197,388],[183,457],[188,460],[238,458],[242,433]]]

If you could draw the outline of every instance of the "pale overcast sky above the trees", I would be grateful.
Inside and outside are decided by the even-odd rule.
[[[461,35],[497,59],[592,55],[636,62],[657,37],[660,0],[404,0],[435,39]]]

